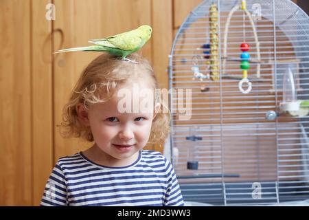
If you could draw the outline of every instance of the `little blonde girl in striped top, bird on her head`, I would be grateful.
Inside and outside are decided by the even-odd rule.
[[[159,89],[157,79],[145,58],[128,58],[137,63],[102,54],[82,72],[64,107],[61,133],[94,144],[58,159],[41,206],[183,206],[170,162],[143,150],[169,131],[161,99],[137,97],[137,91]],[[141,111],[145,103],[151,111]]]

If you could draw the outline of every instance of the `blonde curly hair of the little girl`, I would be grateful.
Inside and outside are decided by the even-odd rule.
[[[76,107],[80,103],[88,110],[91,104],[106,102],[111,98],[115,88],[140,78],[148,80],[153,89],[160,89],[146,58],[139,54],[130,54],[128,58],[138,63],[121,61],[111,54],[104,53],[84,69],[71,92],[69,102],[63,107],[62,122],[58,125],[62,137],[82,137],[89,142],[94,141],[91,128],[78,120]],[[170,111],[161,98],[156,98],[156,102],[159,102],[161,110],[152,121],[149,144],[164,141],[170,132]]]

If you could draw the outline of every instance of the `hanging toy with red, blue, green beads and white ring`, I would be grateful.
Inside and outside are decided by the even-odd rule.
[[[248,79],[248,69],[250,68],[249,64],[249,58],[250,54],[248,52],[249,50],[249,44],[248,43],[242,43],[240,45],[240,50],[242,50],[242,54],[240,55],[240,68],[242,69],[242,80],[238,83],[238,89],[243,93],[243,94],[249,94],[249,92],[252,89],[252,83]],[[242,85],[244,83],[248,84],[248,88],[246,90],[242,89]]]

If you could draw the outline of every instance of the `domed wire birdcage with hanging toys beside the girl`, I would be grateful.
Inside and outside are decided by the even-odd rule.
[[[292,1],[208,0],[190,12],[169,67],[185,201],[309,199],[308,72],[309,19]]]

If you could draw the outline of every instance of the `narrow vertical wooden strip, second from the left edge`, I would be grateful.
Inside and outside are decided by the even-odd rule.
[[[32,0],[32,164],[33,205],[38,206],[53,167],[52,20],[51,0]],[[45,10],[44,10],[45,9]]]

